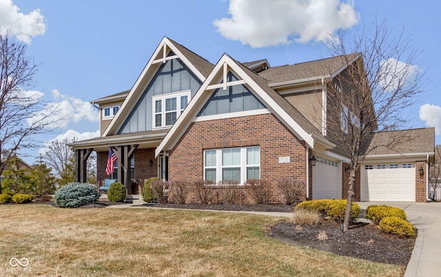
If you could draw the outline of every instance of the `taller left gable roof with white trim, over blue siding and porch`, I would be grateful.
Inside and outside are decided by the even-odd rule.
[[[167,56],[170,51],[174,53],[174,56]],[[121,104],[118,113],[116,113],[114,118],[112,118],[112,121],[103,132],[103,137],[107,135],[114,135],[114,133],[118,131],[125,118],[127,118],[130,111],[132,111],[132,103],[138,102],[139,98],[143,94],[144,89],[147,87],[150,80],[152,80],[154,74],[156,74],[159,67],[158,64],[165,63],[166,60],[172,58],[180,58],[182,63],[184,63],[189,70],[191,70],[193,74],[202,82],[207,77],[207,74],[209,74],[209,71],[211,71],[211,69],[214,67],[214,65],[205,60],[205,58],[194,54],[189,49],[164,36],[161,43],[159,43],[158,47],[156,47],[152,57],[147,62],[147,65],[145,65],[143,71],[134,83],[132,89],[130,89],[130,92],[127,94],[123,104]]]

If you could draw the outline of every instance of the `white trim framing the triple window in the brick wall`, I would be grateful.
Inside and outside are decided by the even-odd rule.
[[[219,148],[219,149],[206,149],[203,151],[203,171],[204,171],[204,180],[206,179],[205,176],[205,169],[208,168],[216,168],[216,184],[218,184],[220,181],[222,181],[222,169],[223,168],[240,168],[240,184],[243,185],[247,181],[247,168],[248,167],[259,167],[259,177],[260,179],[260,173],[261,173],[261,165],[260,164],[247,164],[247,148],[259,148],[259,155],[260,155],[260,146],[245,146],[245,147],[231,147],[231,148]],[[222,151],[227,149],[240,149],[240,166],[223,166],[222,165]],[[205,151],[216,151],[216,166],[205,166]],[[260,159],[260,158],[259,158]],[[227,180],[226,180],[227,181]]]

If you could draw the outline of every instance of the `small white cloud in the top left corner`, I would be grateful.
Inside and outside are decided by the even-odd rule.
[[[44,16],[39,9],[23,14],[12,0],[0,0],[0,25],[3,27],[2,34],[10,30],[10,34],[16,36],[17,40],[28,44],[32,41],[31,37],[46,31]]]

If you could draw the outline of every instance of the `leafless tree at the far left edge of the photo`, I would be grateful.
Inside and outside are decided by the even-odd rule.
[[[41,93],[28,90],[34,85],[37,65],[25,50],[26,45],[9,32],[0,34],[0,174],[17,151],[38,145],[34,135],[47,133],[56,121],[52,116],[58,113],[57,107],[45,107]]]

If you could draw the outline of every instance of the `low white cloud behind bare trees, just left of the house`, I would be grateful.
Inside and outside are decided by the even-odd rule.
[[[61,101],[46,104],[45,114],[58,111],[46,120],[46,122],[52,122],[48,124],[48,127],[63,129],[68,126],[69,122],[80,122],[81,120],[88,120],[89,122],[99,121],[99,112],[89,102],[63,95],[57,89],[52,90],[52,95],[54,100],[60,99]],[[28,124],[37,122],[41,118],[43,118],[43,113],[36,113],[32,118],[28,119]]]

